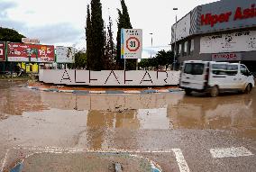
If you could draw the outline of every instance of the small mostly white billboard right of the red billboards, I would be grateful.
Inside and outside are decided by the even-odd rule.
[[[75,63],[75,49],[72,47],[56,47],[57,63]]]

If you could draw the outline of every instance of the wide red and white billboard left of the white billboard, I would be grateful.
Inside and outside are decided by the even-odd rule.
[[[7,60],[16,62],[54,62],[54,46],[8,42]]]

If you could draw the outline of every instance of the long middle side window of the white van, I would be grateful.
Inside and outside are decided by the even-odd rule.
[[[214,64],[212,66],[213,74],[235,76],[238,73],[237,65]]]

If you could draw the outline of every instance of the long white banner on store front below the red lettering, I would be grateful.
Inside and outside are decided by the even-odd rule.
[[[205,36],[200,39],[200,53],[256,50],[256,31]]]

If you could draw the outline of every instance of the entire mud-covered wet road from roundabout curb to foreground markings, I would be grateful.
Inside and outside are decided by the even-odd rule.
[[[22,84],[0,81],[0,170],[22,158],[28,167],[36,153],[76,159],[98,150],[149,158],[163,171],[256,171],[256,89],[211,98],[74,95]],[[36,166],[50,158],[41,157]]]

